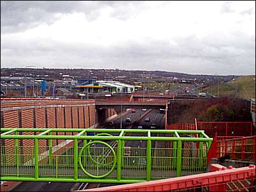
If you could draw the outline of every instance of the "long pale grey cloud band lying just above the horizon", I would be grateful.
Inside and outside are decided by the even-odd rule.
[[[230,36],[230,37],[229,37]],[[187,72],[194,74],[253,74],[255,36],[234,33],[224,36],[196,36],[167,41],[148,41],[148,45],[127,43],[109,47],[65,44],[37,39],[4,41],[2,67],[121,68]],[[211,41],[209,39],[212,39]],[[17,46],[19,43],[19,46]],[[241,67],[243,66],[243,67]]]

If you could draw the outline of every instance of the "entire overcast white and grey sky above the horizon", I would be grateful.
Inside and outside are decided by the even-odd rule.
[[[255,1],[1,1],[1,67],[255,74]]]

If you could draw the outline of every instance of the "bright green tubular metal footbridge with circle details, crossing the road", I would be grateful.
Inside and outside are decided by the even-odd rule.
[[[142,145],[127,147],[131,141]],[[1,181],[132,183],[196,174],[206,172],[211,141],[203,130],[1,128]]]

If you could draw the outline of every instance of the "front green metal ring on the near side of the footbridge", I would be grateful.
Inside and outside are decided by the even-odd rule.
[[[111,163],[113,163],[113,166],[111,167],[110,171],[107,172],[106,174],[103,174],[103,175],[92,175],[90,174],[89,172],[87,172],[85,170],[85,168],[83,167],[82,165],[82,154],[83,154],[83,151],[88,147],[90,146],[91,144],[94,144],[94,143],[100,143],[100,144],[103,144],[104,146],[108,147],[112,153],[113,153],[113,161],[111,161]],[[92,158],[92,156],[90,156],[90,158]],[[109,174],[111,174],[111,172],[113,172],[113,170],[115,169],[115,165],[117,163],[117,155],[115,154],[115,151],[114,149],[109,145],[107,144],[106,142],[103,142],[103,141],[92,141],[92,142],[89,142],[87,143],[80,151],[80,154],[79,154],[79,164],[80,164],[80,167],[82,168],[83,172],[87,175],[89,175],[90,177],[94,177],[94,178],[103,178],[103,177],[106,177],[108,176]],[[101,164],[101,163],[98,163],[98,164]],[[109,163],[108,163],[109,164]],[[104,164],[104,165],[108,165],[108,164]],[[102,165],[102,164],[101,164]]]

